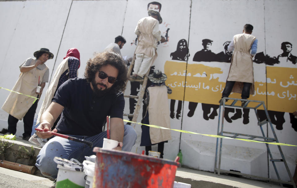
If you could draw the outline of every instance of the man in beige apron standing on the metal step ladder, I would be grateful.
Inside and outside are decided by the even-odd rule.
[[[228,51],[233,51],[233,55],[222,98],[228,97],[232,91],[241,93],[241,98],[247,99],[255,92],[252,58],[257,52],[258,40],[251,35],[252,31],[253,26],[245,24],[243,33],[235,35],[228,46]],[[219,103],[221,102],[222,99]],[[246,102],[242,101],[241,106],[243,107]]]

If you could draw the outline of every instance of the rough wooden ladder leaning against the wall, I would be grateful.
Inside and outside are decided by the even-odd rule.
[[[132,60],[132,62],[130,64],[130,67],[128,69],[128,77],[130,77],[130,74],[131,74],[131,72],[133,70],[134,62],[135,62],[135,59],[133,58],[133,60]],[[150,69],[144,75],[144,79],[132,79],[132,78],[129,78],[127,80],[127,82],[128,81],[137,81],[137,82],[140,82],[140,85],[141,85],[140,92],[138,92],[138,95],[137,96],[136,95],[125,95],[124,94],[124,97],[126,97],[126,98],[137,99],[137,103],[136,103],[136,106],[135,106],[134,113],[133,114],[126,114],[126,113],[123,114],[124,116],[132,117],[132,120],[131,121],[133,121],[133,122],[136,122],[137,121],[137,118],[138,118],[139,110],[140,110],[142,99],[143,99],[144,92],[145,92],[145,88],[146,88],[146,85],[148,83],[149,71],[150,71]],[[127,86],[127,82],[126,82],[126,86]],[[125,88],[125,90],[126,90],[126,88]],[[125,90],[123,91],[123,93],[125,93]],[[132,124],[134,125],[133,127],[135,128],[135,123],[132,123]]]

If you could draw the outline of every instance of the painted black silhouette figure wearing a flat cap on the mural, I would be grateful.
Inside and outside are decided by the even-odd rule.
[[[213,53],[209,48],[213,41],[209,39],[202,40],[203,49],[195,53],[193,61],[215,61],[216,54]]]

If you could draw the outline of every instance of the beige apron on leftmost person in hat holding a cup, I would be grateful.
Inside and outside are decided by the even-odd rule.
[[[35,65],[35,62],[36,59],[33,59],[29,66]],[[34,68],[28,72],[21,73],[12,90],[37,97],[35,92],[38,86],[38,77],[40,83],[42,83],[43,75],[47,69],[49,68],[46,66],[43,70]],[[22,120],[29,108],[32,106],[34,100],[34,98],[10,92],[2,106],[2,109],[13,117]]]

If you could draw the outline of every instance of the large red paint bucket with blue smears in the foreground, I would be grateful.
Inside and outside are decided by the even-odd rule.
[[[95,147],[93,187],[172,188],[180,163],[118,150]]]

